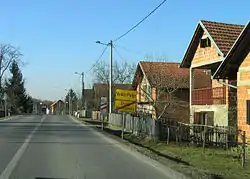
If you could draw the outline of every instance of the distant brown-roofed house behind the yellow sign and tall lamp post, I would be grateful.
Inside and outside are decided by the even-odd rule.
[[[112,108],[114,108],[115,90],[116,89],[131,89],[131,87],[132,87],[131,84],[113,84]],[[96,111],[99,111],[100,105],[101,105],[101,97],[107,97],[107,100],[109,101],[108,99],[109,98],[109,85],[103,84],[103,83],[95,83],[93,84],[93,93],[94,93],[94,107],[93,108]],[[107,106],[109,106],[109,102]]]

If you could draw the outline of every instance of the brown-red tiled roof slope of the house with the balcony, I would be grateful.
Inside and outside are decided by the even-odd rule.
[[[208,33],[213,38],[221,52],[226,55],[240,35],[244,25],[227,24],[202,20]]]

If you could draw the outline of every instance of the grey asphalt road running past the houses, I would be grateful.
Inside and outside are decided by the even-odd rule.
[[[0,122],[0,179],[166,179],[150,162],[67,116]]]

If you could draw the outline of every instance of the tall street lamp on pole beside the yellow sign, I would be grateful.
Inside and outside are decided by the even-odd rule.
[[[112,113],[112,78],[113,78],[113,41],[110,43],[102,43],[100,41],[96,41],[97,44],[110,46],[110,66],[109,66],[109,119]]]

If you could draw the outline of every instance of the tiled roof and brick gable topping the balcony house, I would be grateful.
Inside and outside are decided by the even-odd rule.
[[[192,60],[194,59],[195,55],[196,58],[199,59],[201,62],[200,64],[197,61],[196,61],[197,63],[194,62],[196,63],[195,67],[204,65],[204,60],[206,60],[206,64],[215,63],[214,60],[220,62],[218,56],[223,58],[227,55],[229,49],[233,46],[235,40],[240,35],[243,28],[244,26],[237,24],[227,24],[227,23],[204,21],[204,20],[199,21],[195,29],[194,35],[191,39],[191,42],[189,43],[189,46],[180,64],[180,67],[190,68]],[[212,44],[211,52],[206,52],[207,50],[205,52],[204,50],[200,52],[200,50],[198,49],[200,45],[200,39],[205,34],[211,40]],[[215,54],[215,49],[217,50],[218,56]],[[212,56],[211,57],[212,61],[210,61],[211,59],[207,59],[209,58],[208,57],[209,55]]]

